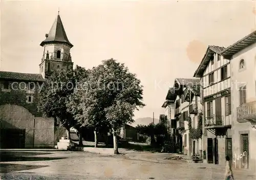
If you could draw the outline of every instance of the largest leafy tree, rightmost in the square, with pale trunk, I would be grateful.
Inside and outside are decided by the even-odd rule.
[[[114,59],[104,60],[92,70],[92,76],[97,82],[92,99],[101,104],[106,121],[111,125],[117,154],[117,132],[123,125],[133,123],[134,111],[144,106],[143,86],[135,74]]]

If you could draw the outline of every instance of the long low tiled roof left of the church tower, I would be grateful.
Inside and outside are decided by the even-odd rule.
[[[16,73],[16,72],[7,72],[7,71],[0,71],[0,79],[45,81],[40,74]]]

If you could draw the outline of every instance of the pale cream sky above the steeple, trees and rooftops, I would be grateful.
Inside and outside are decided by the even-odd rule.
[[[91,69],[114,58],[136,73],[155,118],[175,78],[193,77],[208,45],[227,47],[255,30],[253,1],[1,2],[1,71],[39,73],[39,46],[58,14],[74,65]]]

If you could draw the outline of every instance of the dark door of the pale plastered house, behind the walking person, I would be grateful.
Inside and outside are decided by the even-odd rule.
[[[248,134],[241,134],[241,154],[243,154],[242,158],[242,168],[249,168],[249,144],[248,144]]]

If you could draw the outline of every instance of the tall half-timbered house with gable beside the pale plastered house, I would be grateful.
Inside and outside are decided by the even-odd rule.
[[[194,77],[201,78],[203,105],[203,151],[207,163],[224,164],[226,145],[232,142],[230,61],[221,56],[225,48],[208,46]]]

